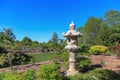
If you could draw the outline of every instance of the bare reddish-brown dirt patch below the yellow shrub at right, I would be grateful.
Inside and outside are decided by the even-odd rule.
[[[91,56],[92,65],[99,65],[100,61],[103,60],[105,66],[102,68],[110,69],[120,73],[120,59],[117,59],[115,55],[112,56],[105,56],[105,55],[93,55]]]

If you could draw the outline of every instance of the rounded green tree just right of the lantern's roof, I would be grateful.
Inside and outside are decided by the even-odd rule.
[[[101,18],[90,17],[82,29],[84,43],[97,44],[98,34],[101,29]]]

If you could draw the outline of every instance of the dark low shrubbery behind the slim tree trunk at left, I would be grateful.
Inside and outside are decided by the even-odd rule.
[[[12,56],[12,64],[13,65],[18,65],[18,64],[23,64],[25,62],[29,62],[31,59],[30,56],[27,54],[23,53],[15,53]],[[0,67],[8,67],[10,65],[10,53],[3,53],[0,54]]]

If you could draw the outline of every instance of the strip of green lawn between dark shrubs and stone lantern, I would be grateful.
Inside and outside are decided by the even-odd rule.
[[[46,61],[58,57],[56,53],[29,54],[29,56],[32,56],[34,58],[34,62]]]

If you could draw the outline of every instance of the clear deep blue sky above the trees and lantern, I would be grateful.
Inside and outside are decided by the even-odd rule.
[[[43,42],[54,32],[63,38],[72,20],[78,28],[111,9],[120,10],[120,0],[0,0],[0,30],[12,28],[18,40]]]

